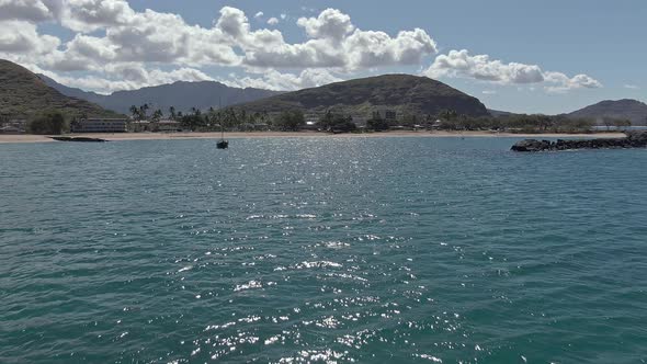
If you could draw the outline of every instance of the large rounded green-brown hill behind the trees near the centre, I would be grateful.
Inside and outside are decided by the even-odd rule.
[[[284,110],[325,113],[333,110],[351,115],[371,115],[376,110],[393,110],[400,114],[436,115],[443,110],[454,110],[470,116],[489,115],[478,99],[430,78],[410,75],[385,75],[337,82],[239,106],[269,113]]]

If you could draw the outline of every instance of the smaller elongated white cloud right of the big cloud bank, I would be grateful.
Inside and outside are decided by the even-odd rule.
[[[546,90],[550,92],[602,87],[598,80],[587,75],[577,75],[569,78],[561,72],[544,71],[537,65],[507,64],[498,59],[491,59],[488,55],[472,56],[466,49],[451,50],[446,55],[438,56],[423,73],[431,78],[463,77],[500,84],[545,82],[547,83]]]

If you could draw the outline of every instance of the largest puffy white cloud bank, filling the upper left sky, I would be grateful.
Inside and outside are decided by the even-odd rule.
[[[56,19],[77,33],[61,45],[55,37],[39,35],[32,23],[20,29],[5,22],[10,25],[4,25],[9,31],[0,35],[0,56],[15,59],[20,52],[37,54],[31,64],[57,72],[102,72],[106,65],[133,62],[149,67],[211,65],[243,66],[252,71],[318,68],[348,72],[413,65],[436,49],[422,30],[397,36],[364,32],[352,24],[348,14],[334,9],[299,19],[297,23],[308,38],[287,43],[277,30],[252,31],[245,12],[232,7],[222,8],[214,25],[203,27],[188,24],[173,13],[135,11],[125,0],[14,0],[11,7],[8,0],[0,1],[4,10],[11,10],[7,12],[11,16],[34,22]]]

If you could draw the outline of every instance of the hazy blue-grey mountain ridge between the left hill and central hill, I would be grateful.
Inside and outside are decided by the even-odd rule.
[[[175,107],[177,111],[186,112],[191,107],[200,110],[217,109],[220,101],[223,106],[229,106],[282,93],[252,88],[230,88],[215,81],[178,81],[139,90],[116,91],[104,95],[69,88],[44,75],[39,75],[39,77],[63,94],[88,100],[125,114],[129,113],[132,105],[139,106],[145,103],[149,104],[152,110],[160,109],[163,113],[167,113],[170,106]]]

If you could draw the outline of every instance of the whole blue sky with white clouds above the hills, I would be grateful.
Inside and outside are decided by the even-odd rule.
[[[0,31],[21,36],[13,43],[0,37],[0,57],[100,92],[178,79],[293,90],[406,72],[438,78],[490,109],[513,112],[554,114],[605,99],[647,101],[644,0],[1,3]],[[163,18],[173,14],[181,22]],[[154,22],[168,26],[150,27]],[[247,33],[232,35],[240,24],[248,24]],[[409,33],[400,36],[402,31]],[[138,44],[146,36],[151,41]],[[173,39],[166,44],[164,37]],[[361,43],[366,39],[379,42]]]

